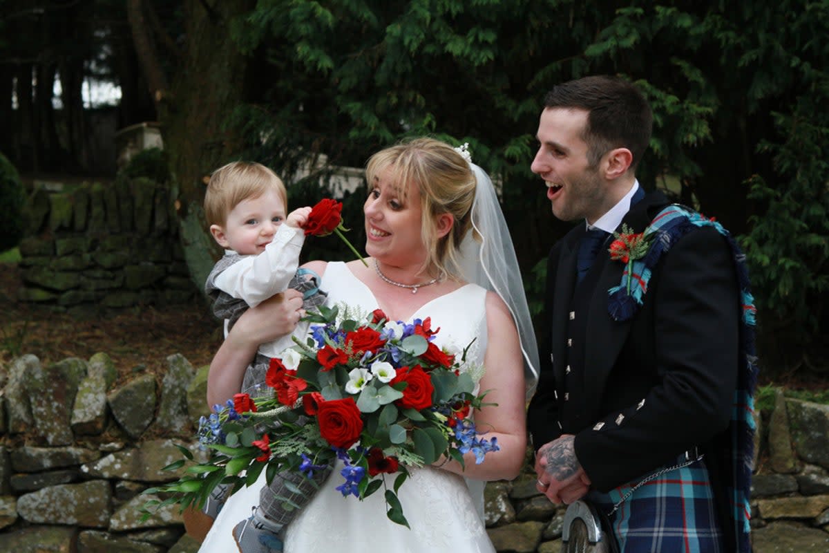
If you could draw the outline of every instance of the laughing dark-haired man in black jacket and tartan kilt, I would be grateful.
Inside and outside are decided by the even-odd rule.
[[[531,168],[553,214],[583,222],[547,266],[528,412],[537,486],[607,514],[620,551],[750,551],[743,257],[719,224],[644,192],[634,171],[651,128],[647,100],[622,79],[573,80],[545,98]],[[628,251],[649,225],[663,234],[647,257]],[[732,420],[737,396],[748,409]]]

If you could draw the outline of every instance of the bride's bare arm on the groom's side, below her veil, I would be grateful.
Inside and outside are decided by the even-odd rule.
[[[484,357],[486,371],[481,391],[491,390],[485,403],[497,403],[475,411],[478,432],[483,438],[497,438],[498,451],[487,453],[483,463],[475,464],[475,455],[464,455],[466,468],[449,461],[442,468],[477,480],[511,480],[521,472],[526,455],[526,414],[524,368],[521,343],[511,314],[496,293],[487,293],[487,336]],[[440,460],[437,465],[443,463]]]

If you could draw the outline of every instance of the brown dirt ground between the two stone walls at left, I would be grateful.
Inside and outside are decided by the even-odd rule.
[[[20,284],[17,265],[0,264],[0,372],[25,353],[47,365],[65,357],[88,360],[105,352],[118,368],[119,380],[135,371],[160,376],[167,356],[181,353],[198,368],[210,363],[221,344],[221,324],[199,299],[169,307],[70,315],[48,305],[18,303]]]

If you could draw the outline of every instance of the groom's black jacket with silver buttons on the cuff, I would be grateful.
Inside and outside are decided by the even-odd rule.
[[[662,193],[649,194],[623,224],[642,232],[666,205]],[[579,463],[593,487],[608,492],[686,450],[710,451],[728,427],[739,290],[725,238],[698,228],[662,255],[633,318],[616,322],[608,314],[608,289],[621,283],[625,264],[610,260],[611,237],[577,287],[584,232],[584,223],[575,226],[550,251],[541,377],[528,426],[536,450],[575,434]],[[709,470],[716,489],[722,468]]]

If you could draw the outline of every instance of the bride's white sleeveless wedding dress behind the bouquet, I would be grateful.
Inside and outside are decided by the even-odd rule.
[[[327,265],[322,289],[328,293],[328,305],[347,304],[361,313],[371,313],[378,307],[371,290],[342,262]],[[453,351],[462,352],[477,338],[467,360],[470,366],[482,366],[487,349],[486,293],[477,284],[466,284],[429,301],[412,319],[431,318],[432,328],[440,328],[435,343]],[[398,492],[409,529],[386,517],[382,488],[364,501],[342,497],[335,489],[344,482],[341,469],[342,463],[338,462],[327,482],[288,526],[285,553],[495,552],[482,521],[484,483],[439,468],[410,469],[410,478]],[[386,476],[389,487],[394,478]],[[228,499],[200,553],[237,551],[231,531],[236,523],[250,517],[262,486],[264,472],[253,486]]]

